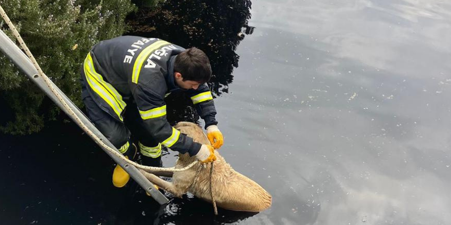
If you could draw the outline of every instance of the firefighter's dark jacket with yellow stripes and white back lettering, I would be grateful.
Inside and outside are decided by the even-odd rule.
[[[157,38],[122,36],[101,41],[85,59],[84,79],[94,101],[109,115],[123,122],[123,99],[133,98],[150,137],[172,150],[194,155],[201,145],[166,119],[165,96],[182,91],[174,82],[174,61],[183,50]],[[206,127],[216,125],[216,109],[207,84],[184,91]]]

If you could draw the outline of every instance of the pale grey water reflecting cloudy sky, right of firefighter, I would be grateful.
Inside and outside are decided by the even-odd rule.
[[[448,224],[451,3],[263,1],[252,14],[238,51],[250,61],[218,105],[233,153],[261,155],[272,223]],[[317,217],[291,212],[313,200]]]

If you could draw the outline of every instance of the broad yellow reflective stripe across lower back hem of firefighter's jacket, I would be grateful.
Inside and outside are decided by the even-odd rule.
[[[121,113],[127,104],[122,100],[122,96],[116,89],[111,84],[104,81],[102,76],[94,70],[94,62],[92,61],[91,54],[88,54],[85,59],[84,70],[89,86],[100,96],[100,98],[107,102],[114,110],[117,117],[122,121]]]

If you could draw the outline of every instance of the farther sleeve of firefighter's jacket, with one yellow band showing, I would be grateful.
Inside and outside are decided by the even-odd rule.
[[[197,113],[205,121],[205,128],[210,125],[217,125],[216,121],[216,108],[213,101],[213,96],[210,92],[210,88],[206,83],[199,85],[199,87],[189,93],[193,104],[196,107]]]

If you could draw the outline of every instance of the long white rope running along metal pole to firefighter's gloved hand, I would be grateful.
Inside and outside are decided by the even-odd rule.
[[[100,147],[107,149],[109,152],[115,154],[116,156],[118,156],[120,159],[126,161],[127,163],[135,166],[136,168],[140,168],[142,170],[145,171],[150,171],[150,172],[160,172],[160,171],[166,171],[166,172],[178,172],[178,171],[183,171],[183,170],[187,170],[189,168],[191,168],[192,166],[194,166],[194,164],[197,163],[197,161],[194,161],[193,163],[191,163],[190,165],[180,168],[180,169],[175,169],[175,167],[170,167],[170,168],[161,168],[161,167],[151,167],[151,166],[143,166],[140,165],[138,163],[135,163],[127,158],[125,158],[124,155],[122,155],[121,153],[119,153],[118,151],[116,151],[113,148],[110,148],[108,145],[106,145],[105,143],[103,143],[84,123],[83,121],[80,120],[80,118],[75,114],[75,112],[72,110],[71,107],[69,107],[69,105],[66,103],[66,101],[64,101],[63,97],[61,97],[59,95],[59,93],[55,90],[55,88],[53,87],[53,85],[51,84],[50,79],[44,74],[44,72],[42,71],[42,69],[40,68],[39,64],[36,62],[36,60],[34,59],[33,55],[31,54],[30,50],[28,49],[27,45],[25,44],[24,40],[22,39],[22,37],[20,37],[19,32],[17,32],[16,28],[14,27],[14,25],[12,24],[11,20],[9,19],[8,15],[6,14],[6,12],[3,10],[3,7],[0,6],[0,14],[2,15],[3,19],[5,20],[6,24],[8,24],[8,27],[11,29],[11,31],[13,32],[14,36],[17,38],[17,40],[19,41],[20,46],[24,49],[25,53],[27,54],[27,56],[30,58],[31,62],[33,63],[34,67],[36,68],[36,70],[38,71],[39,75],[43,78],[43,80],[45,81],[45,83],[47,84],[47,86],[50,88],[50,90],[52,91],[52,93],[58,98],[58,100],[63,104],[64,108],[68,111],[68,113],[72,116],[72,118],[75,119],[75,121],[78,123],[78,125],[81,127],[81,129],[83,129],[89,137],[91,137],[95,143],[97,143],[97,145],[99,145]]]

